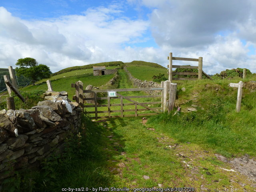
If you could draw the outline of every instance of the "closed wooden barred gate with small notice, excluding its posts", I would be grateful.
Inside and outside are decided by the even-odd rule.
[[[118,92],[131,92],[131,91],[156,91],[160,90],[161,94],[154,95],[140,95],[140,96],[124,96]],[[105,89],[105,90],[84,90],[84,93],[93,93],[93,98],[84,98],[84,100],[93,100],[94,104],[85,105],[86,111],[89,114],[94,114],[92,119],[98,118],[116,118],[116,117],[136,117],[136,116],[148,116],[148,115],[156,115],[159,114],[162,110],[162,107],[151,107],[154,104],[162,104],[162,101],[154,101],[154,102],[138,102],[133,100],[132,98],[162,98],[162,90],[163,88],[128,88],[128,89]],[[97,93],[108,93],[107,96],[98,96]],[[111,96],[112,94],[112,96]],[[98,104],[100,100],[107,100],[107,104]],[[112,100],[115,100],[112,102]],[[120,101],[119,101],[120,100]],[[124,100],[129,101],[129,103]],[[118,103],[116,103],[118,102]],[[120,106],[120,109],[113,110],[111,107],[116,108],[116,106]],[[134,106],[134,109],[130,109],[126,106]],[[107,110],[102,110],[103,108],[107,108]],[[94,110],[92,110],[94,108]],[[127,109],[129,108],[129,109]],[[138,113],[140,111],[152,111],[151,113]],[[134,112],[133,114],[124,114],[125,112]],[[114,113],[114,114],[113,114]],[[101,116],[100,114],[105,114]],[[107,115],[106,115],[107,114]]]

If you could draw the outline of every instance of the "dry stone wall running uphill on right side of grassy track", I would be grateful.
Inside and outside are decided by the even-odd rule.
[[[128,77],[131,80],[133,86],[136,86],[138,88],[161,87],[161,84],[158,84],[154,81],[146,81],[146,80],[142,81],[142,80],[139,80],[137,78],[134,78],[132,76],[132,74],[130,74],[130,72],[127,70],[126,67],[124,67],[124,70],[128,74]],[[148,93],[148,94],[154,94],[156,92],[160,92],[160,91],[146,91],[146,93]]]

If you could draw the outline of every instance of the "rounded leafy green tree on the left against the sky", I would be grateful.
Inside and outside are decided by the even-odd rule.
[[[49,78],[52,73],[48,66],[43,64],[38,65],[38,62],[34,58],[20,58],[17,60],[16,65],[20,66],[19,68],[15,68],[17,76],[23,75],[34,82],[43,78]]]

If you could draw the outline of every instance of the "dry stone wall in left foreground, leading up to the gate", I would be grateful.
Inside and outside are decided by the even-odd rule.
[[[68,100],[65,91],[44,96],[30,110],[0,111],[0,184],[14,170],[38,164],[60,149],[70,134],[78,133],[82,108]]]

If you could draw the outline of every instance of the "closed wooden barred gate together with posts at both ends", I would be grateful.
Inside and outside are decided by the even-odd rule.
[[[102,90],[83,90],[83,83],[81,81],[71,84],[72,88],[76,88],[76,95],[73,96],[73,100],[82,107],[88,108],[88,114],[94,114],[91,118],[117,118],[117,117],[133,117],[133,116],[148,116],[156,115],[160,112],[168,110],[170,112],[174,108],[174,102],[176,100],[176,89],[177,84],[171,83],[170,81],[162,82],[162,87],[158,88],[124,88],[124,89],[102,89]],[[155,95],[140,95],[140,96],[124,96],[118,92],[132,92],[132,91],[160,91],[160,94]],[[110,96],[110,92],[113,96]],[[90,98],[84,98],[84,93],[92,93],[93,96]],[[108,96],[99,97],[97,93],[108,93]],[[138,102],[132,98],[161,98],[161,101],[154,102]],[[169,100],[167,100],[169,98]],[[111,103],[110,100],[119,99],[120,103]],[[129,103],[125,103],[128,100]],[[84,101],[93,100],[94,104],[84,105]],[[99,100],[107,100],[107,104],[98,104]],[[118,100],[117,100],[118,101]],[[169,102],[167,102],[169,101]],[[161,107],[151,107],[149,105],[161,104]],[[120,106],[118,110],[112,110],[111,107]],[[134,109],[124,109],[124,106],[135,106]],[[142,106],[143,108],[138,108]],[[107,110],[98,110],[99,107],[106,107]],[[94,108],[94,110],[91,110]],[[151,113],[138,113],[139,111],[152,111]],[[124,114],[124,112],[134,112],[134,114]],[[100,116],[99,114],[107,114]],[[120,113],[120,114],[112,114]]]

